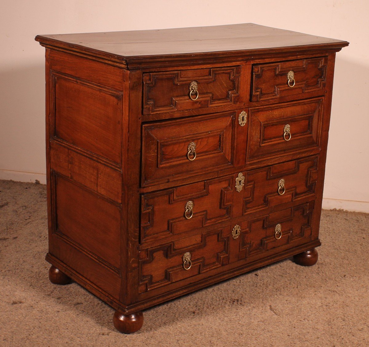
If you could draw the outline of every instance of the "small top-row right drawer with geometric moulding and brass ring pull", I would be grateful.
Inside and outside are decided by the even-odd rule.
[[[323,95],[328,57],[255,64],[252,67],[251,101],[316,92]]]

